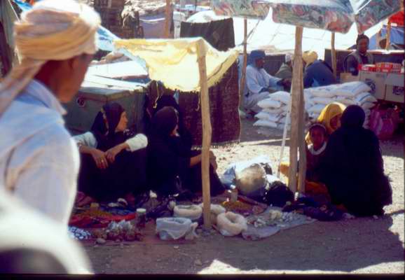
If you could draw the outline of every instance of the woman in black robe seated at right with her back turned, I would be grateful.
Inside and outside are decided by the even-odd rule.
[[[345,109],[341,127],[329,138],[320,176],[333,204],[343,204],[355,216],[382,215],[392,203],[392,189],[378,138],[363,128],[364,120],[361,107]]]

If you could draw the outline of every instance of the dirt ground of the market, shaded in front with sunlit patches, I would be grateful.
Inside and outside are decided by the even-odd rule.
[[[240,144],[214,149],[219,173],[231,162],[268,155],[275,170],[282,132],[264,136],[242,120]],[[320,222],[260,241],[203,232],[196,241],[85,244],[96,274],[404,274],[404,135],[382,141],[393,203],[382,218]],[[289,142],[284,151],[288,160]]]

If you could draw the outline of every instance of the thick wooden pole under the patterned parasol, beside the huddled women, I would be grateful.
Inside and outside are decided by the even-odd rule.
[[[292,73],[292,83],[291,83],[291,140],[289,146],[289,176],[288,176],[288,187],[293,192],[296,193],[296,171],[297,171],[297,160],[298,160],[298,141],[299,137],[299,116],[300,111],[300,101],[301,92],[303,91],[303,81],[302,81],[302,34],[303,27],[296,27],[295,31],[295,51],[294,51],[294,68]]]

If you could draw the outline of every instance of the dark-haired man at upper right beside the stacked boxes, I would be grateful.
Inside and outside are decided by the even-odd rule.
[[[360,64],[374,64],[373,55],[371,55],[370,52],[367,52],[367,50],[369,50],[369,41],[369,37],[364,34],[359,34],[357,36],[357,50],[350,53],[343,63],[345,72],[350,72],[353,76],[357,76],[359,74]]]

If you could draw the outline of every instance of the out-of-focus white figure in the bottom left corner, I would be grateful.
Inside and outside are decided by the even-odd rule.
[[[92,269],[59,223],[0,189],[0,274],[15,273],[89,274]]]

